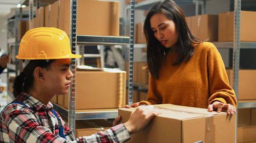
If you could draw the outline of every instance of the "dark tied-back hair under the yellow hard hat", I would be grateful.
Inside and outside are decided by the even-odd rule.
[[[14,80],[14,97],[18,97],[22,92],[28,92],[28,90],[32,87],[34,81],[33,72],[36,67],[48,69],[51,63],[54,61],[55,60],[30,60],[23,72],[21,72]]]

